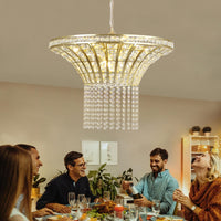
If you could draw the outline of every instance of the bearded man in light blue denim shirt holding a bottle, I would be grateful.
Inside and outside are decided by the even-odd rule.
[[[178,188],[177,180],[166,169],[168,152],[166,149],[156,148],[150,152],[150,167],[152,172],[146,173],[136,185],[141,194],[134,200],[135,204],[151,209],[152,200],[160,201],[160,214],[172,214],[176,202],[172,199],[173,191]],[[124,181],[123,188],[131,193],[130,182]]]

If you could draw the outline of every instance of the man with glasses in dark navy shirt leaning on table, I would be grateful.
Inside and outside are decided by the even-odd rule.
[[[90,182],[85,175],[86,162],[81,152],[71,151],[64,158],[64,164],[67,169],[66,173],[52,179],[45,187],[45,191],[36,202],[36,209],[49,207],[54,211],[67,212],[64,204],[69,204],[69,192],[91,197],[95,200],[95,196],[90,190]],[[49,204],[50,203],[50,204]]]

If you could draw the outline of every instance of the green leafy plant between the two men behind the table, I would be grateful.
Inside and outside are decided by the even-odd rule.
[[[114,200],[117,194],[118,179],[110,173],[105,172],[106,164],[102,165],[97,170],[91,170],[87,175],[92,193],[103,197],[104,191],[110,192],[110,199]]]

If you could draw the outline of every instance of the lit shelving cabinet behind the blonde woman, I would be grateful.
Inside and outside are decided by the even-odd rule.
[[[210,151],[220,155],[219,136],[187,136],[182,138],[181,182],[182,191],[186,194],[189,193],[191,181],[194,180],[191,161],[196,155]]]

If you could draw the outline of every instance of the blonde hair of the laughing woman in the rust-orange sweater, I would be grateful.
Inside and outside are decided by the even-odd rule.
[[[220,158],[218,156],[218,154],[210,154],[210,166],[211,168],[208,170],[207,173],[207,181],[212,182],[214,179],[217,179],[218,177],[220,177]]]

